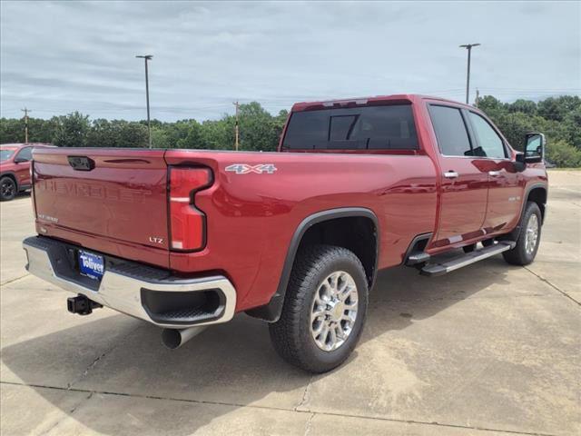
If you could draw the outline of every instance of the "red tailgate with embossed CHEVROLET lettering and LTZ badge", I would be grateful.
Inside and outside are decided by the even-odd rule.
[[[106,241],[107,247],[144,245],[167,252],[164,153],[134,149],[35,150],[37,230],[95,250],[105,251]],[[94,241],[94,246],[87,241]],[[123,249],[113,251],[120,254]],[[156,257],[163,261],[155,263],[169,262],[167,253]]]

